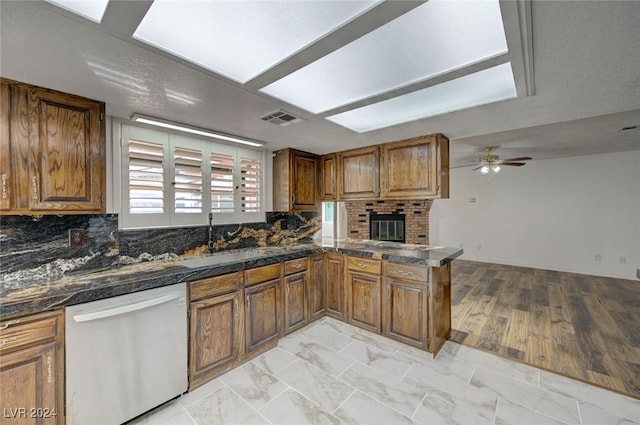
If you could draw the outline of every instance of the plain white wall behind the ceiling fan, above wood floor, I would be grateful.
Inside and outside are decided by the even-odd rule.
[[[636,279],[640,150],[534,160],[491,182],[454,169],[450,179],[450,199],[431,208],[431,244],[473,261]]]

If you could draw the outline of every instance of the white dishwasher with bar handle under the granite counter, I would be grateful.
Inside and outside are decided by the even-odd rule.
[[[67,425],[117,425],[187,391],[186,284],[65,309]]]

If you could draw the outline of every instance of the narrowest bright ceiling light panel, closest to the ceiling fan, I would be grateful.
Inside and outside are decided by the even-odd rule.
[[[327,117],[358,133],[516,97],[511,64]]]

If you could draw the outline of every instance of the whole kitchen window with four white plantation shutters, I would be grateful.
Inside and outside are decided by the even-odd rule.
[[[121,124],[121,153],[123,228],[264,221],[264,151]]]

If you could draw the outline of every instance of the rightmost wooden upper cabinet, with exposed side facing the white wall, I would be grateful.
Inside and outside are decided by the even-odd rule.
[[[441,134],[380,146],[380,197],[448,198],[449,140]]]

